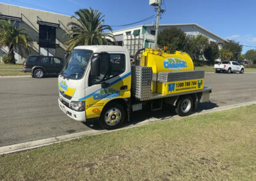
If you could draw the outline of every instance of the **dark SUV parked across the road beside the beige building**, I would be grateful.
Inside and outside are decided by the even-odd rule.
[[[42,78],[45,74],[60,73],[63,64],[60,57],[31,55],[24,61],[22,70],[31,72],[36,78]]]

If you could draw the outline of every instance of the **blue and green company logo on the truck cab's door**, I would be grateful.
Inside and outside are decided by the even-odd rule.
[[[120,96],[120,91],[113,88],[107,88],[107,89],[100,89],[99,91],[95,92],[95,94],[93,94],[93,99],[108,100],[118,96]]]

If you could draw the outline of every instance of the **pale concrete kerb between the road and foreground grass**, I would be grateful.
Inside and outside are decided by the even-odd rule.
[[[256,101],[250,101],[250,102],[247,102],[247,103],[240,103],[240,104],[236,104],[236,105],[221,106],[221,107],[213,108],[211,110],[204,110],[200,113],[193,113],[193,115],[190,115],[189,117],[192,117],[192,116],[195,116],[195,115],[203,115],[203,114],[212,113],[212,112],[220,112],[220,111],[223,111],[223,110],[230,110],[232,108],[239,108],[241,106],[249,106],[249,105],[256,105]],[[166,118],[161,119],[161,120],[156,119],[156,118],[152,118],[152,119],[141,121],[136,125],[126,126],[126,127],[120,128],[120,129],[129,129],[131,127],[143,126],[143,125],[150,124],[152,122],[159,122],[159,121],[170,120],[170,119],[182,119],[182,117],[179,117],[178,115],[175,115],[173,117],[166,117]],[[98,130],[88,130],[88,131],[83,131],[83,132],[79,132],[79,133],[72,133],[72,134],[56,136],[56,137],[52,137],[52,138],[46,138],[46,139],[42,139],[42,140],[28,141],[26,143],[19,143],[19,144],[15,144],[15,145],[7,145],[7,146],[4,146],[4,147],[0,147],[0,155],[10,154],[10,153],[13,153],[13,152],[20,152],[20,151],[29,150],[29,149],[38,148],[38,147],[44,147],[44,146],[47,146],[47,145],[52,145],[54,143],[60,143],[61,141],[68,141],[68,140],[74,140],[74,139],[77,139],[77,138],[81,138],[82,136],[109,133],[109,132],[117,131],[117,130],[120,130],[120,129],[115,129],[115,130],[111,130],[111,131],[108,131],[108,130],[100,130],[100,131],[98,131]]]

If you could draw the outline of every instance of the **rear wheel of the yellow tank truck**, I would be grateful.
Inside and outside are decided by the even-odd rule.
[[[191,96],[182,96],[177,103],[175,112],[179,116],[189,115],[193,109],[193,105],[194,102]]]

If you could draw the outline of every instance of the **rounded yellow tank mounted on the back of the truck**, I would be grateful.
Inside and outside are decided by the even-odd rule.
[[[169,52],[152,48],[145,48],[140,65],[152,67],[153,73],[194,70],[193,61],[188,54],[179,51],[170,54]]]

